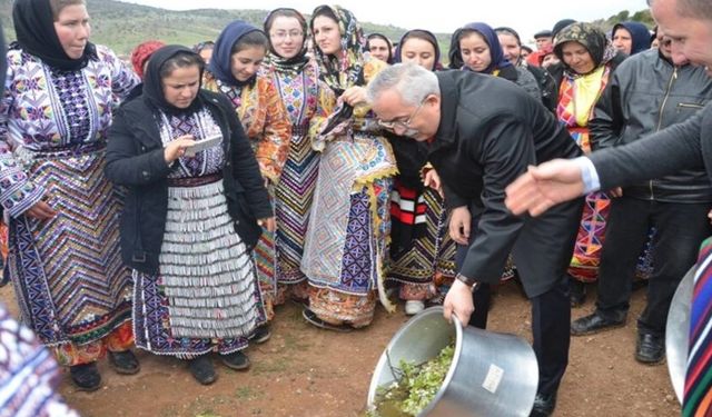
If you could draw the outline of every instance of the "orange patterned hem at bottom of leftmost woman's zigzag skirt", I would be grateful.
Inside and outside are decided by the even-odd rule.
[[[50,349],[61,366],[90,364],[103,358],[107,351],[123,351],[134,346],[132,321],[126,321],[105,338],[87,345],[65,344]]]

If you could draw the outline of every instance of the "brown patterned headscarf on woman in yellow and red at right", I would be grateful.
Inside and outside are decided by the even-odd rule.
[[[606,64],[617,53],[617,50],[613,43],[611,43],[611,40],[609,40],[605,33],[595,26],[585,22],[568,24],[556,34],[556,38],[554,39],[554,53],[564,66],[566,75],[573,78],[586,75],[577,73],[564,61],[562,49],[566,42],[578,42],[589,50],[594,63],[593,70],[589,73],[595,71],[601,66]]]

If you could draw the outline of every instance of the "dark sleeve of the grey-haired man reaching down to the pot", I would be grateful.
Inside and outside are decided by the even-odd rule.
[[[482,136],[482,149],[471,149],[472,158],[481,161],[484,168],[484,210],[477,227],[473,227],[475,239],[461,274],[494,284],[502,276],[507,256],[524,226],[524,220],[504,206],[504,189],[524,173],[527,166],[536,163],[536,156],[532,129],[524,121],[501,116],[487,125],[490,128]]]

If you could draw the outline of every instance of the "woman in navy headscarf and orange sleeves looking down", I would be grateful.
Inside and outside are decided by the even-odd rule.
[[[291,122],[270,78],[258,75],[268,48],[265,32],[241,20],[230,22],[215,42],[204,83],[207,90],[219,92],[233,102],[274,201],[275,187],[289,151]],[[270,321],[277,297],[274,230],[264,230],[254,256],[267,321]],[[263,326],[254,341],[264,342],[269,337],[269,328]]]

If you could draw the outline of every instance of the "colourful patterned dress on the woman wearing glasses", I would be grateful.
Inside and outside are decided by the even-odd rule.
[[[276,276],[280,301],[285,298],[285,285],[290,285],[294,297],[307,297],[306,286],[293,285],[306,284],[306,276],[299,268],[319,166],[319,152],[312,148],[312,140],[336,101],[334,92],[319,80],[316,62],[306,57],[306,47],[304,53],[301,61],[288,64],[269,52],[263,64],[265,76],[271,77],[291,121],[289,152],[277,183],[275,201]]]

